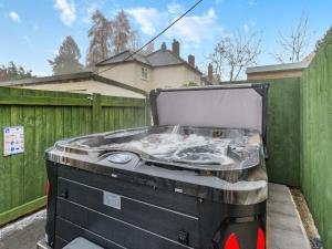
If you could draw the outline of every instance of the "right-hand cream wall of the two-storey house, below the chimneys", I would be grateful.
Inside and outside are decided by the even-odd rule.
[[[194,82],[200,85],[200,75],[185,65],[155,68],[152,75],[152,87],[179,87]]]

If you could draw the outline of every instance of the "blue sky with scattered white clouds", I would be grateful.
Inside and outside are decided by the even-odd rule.
[[[66,35],[77,42],[82,58],[89,48],[91,15],[98,9],[113,19],[126,11],[142,43],[147,42],[180,15],[196,0],[0,0],[0,65],[13,61],[35,75],[52,74],[52,60]],[[311,42],[309,51],[332,25],[331,0],[203,0],[188,15],[155,42],[180,42],[180,55],[196,56],[205,72],[207,56],[225,35],[257,32],[262,38],[258,64],[276,63],[271,55],[280,51],[276,40],[289,33],[301,15],[308,15]]]

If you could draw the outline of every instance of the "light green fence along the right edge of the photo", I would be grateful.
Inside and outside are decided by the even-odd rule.
[[[301,187],[325,249],[332,248],[332,30],[301,82]]]

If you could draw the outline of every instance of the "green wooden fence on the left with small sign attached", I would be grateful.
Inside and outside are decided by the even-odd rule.
[[[0,226],[45,205],[44,151],[72,136],[149,123],[146,101],[0,87]],[[3,156],[6,126],[24,126],[23,154]]]

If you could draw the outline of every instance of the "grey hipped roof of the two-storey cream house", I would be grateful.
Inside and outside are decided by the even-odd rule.
[[[96,66],[132,62],[132,61],[141,62],[152,68],[169,66],[169,65],[186,65],[190,70],[194,70],[195,72],[201,74],[201,72],[197,68],[191,66],[187,61],[183,60],[180,56],[176,55],[170,50],[163,50],[163,49],[159,49],[146,55],[137,54],[134,53],[133,51],[126,50],[122,53],[115,54],[104,61],[96,63]]]

